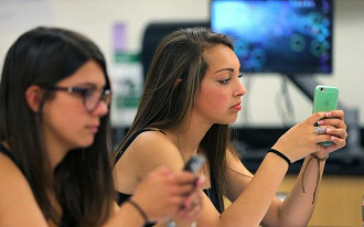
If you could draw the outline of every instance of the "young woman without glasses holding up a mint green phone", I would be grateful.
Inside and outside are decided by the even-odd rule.
[[[232,42],[205,28],[163,39],[149,68],[137,116],[116,154],[120,195],[132,195],[156,166],[172,170],[194,154],[206,156],[199,227],[306,226],[330,152],[345,145],[342,110],[319,112],[288,130],[253,175],[229,141],[228,125],[242,110],[246,89]],[[329,119],[320,120],[323,117]],[[320,127],[314,127],[319,122]],[[324,133],[315,132],[323,129]],[[331,140],[330,147],[318,142]],[[285,202],[275,194],[291,162],[306,158]],[[319,164],[318,164],[319,163]],[[138,166],[138,167],[136,167]],[[303,188],[303,190],[302,190]],[[232,203],[224,209],[223,195]]]

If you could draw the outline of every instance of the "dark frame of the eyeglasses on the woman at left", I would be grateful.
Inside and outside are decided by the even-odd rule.
[[[107,106],[109,106],[110,101],[111,101],[111,89],[108,88],[104,88],[103,91],[99,94],[99,98],[98,100],[92,105],[92,107],[88,107],[86,101],[88,97],[93,97],[89,96],[89,94],[94,94],[95,91],[100,90],[99,88],[92,88],[92,87],[75,87],[75,86],[71,86],[71,87],[62,87],[62,86],[43,86],[43,88],[49,89],[49,90],[60,90],[60,91],[66,91],[68,94],[78,94],[82,99],[83,99],[83,104],[84,107],[86,108],[86,110],[88,112],[93,112],[98,105],[100,104],[100,101],[104,101]],[[89,93],[92,91],[92,93]],[[90,99],[88,99],[90,100]]]

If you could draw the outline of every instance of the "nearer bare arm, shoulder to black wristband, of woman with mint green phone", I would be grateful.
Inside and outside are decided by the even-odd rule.
[[[138,170],[135,171],[140,179],[160,165],[168,166],[174,172],[183,167],[183,160],[176,147],[159,133],[146,132],[140,134],[129,149],[126,153],[128,156],[125,156],[128,159],[124,161],[132,162],[135,166],[138,166]],[[121,159],[120,161],[122,161]],[[197,218],[197,226],[257,226],[266,214],[287,169],[288,165],[283,160],[275,154],[268,154],[257,172],[257,177],[249,184],[249,188],[247,187],[222,215],[215,209],[210,198],[203,194],[203,209]],[[270,170],[275,171],[271,172]],[[266,187],[267,183],[274,186]],[[267,190],[264,197],[260,196],[261,188]],[[180,226],[179,219],[174,220]],[[189,225],[186,224],[186,226]]]

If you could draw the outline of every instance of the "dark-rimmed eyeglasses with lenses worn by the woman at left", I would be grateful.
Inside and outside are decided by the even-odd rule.
[[[111,90],[101,89],[96,87],[58,87],[46,86],[45,89],[61,90],[69,94],[78,94],[83,98],[83,104],[88,112],[96,109],[100,101],[104,101],[107,106],[111,101]]]

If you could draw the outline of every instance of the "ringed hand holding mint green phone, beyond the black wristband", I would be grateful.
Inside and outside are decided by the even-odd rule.
[[[320,123],[321,127],[325,128],[325,133],[318,134],[314,132],[314,125],[326,117],[330,117],[330,119]],[[291,162],[296,162],[313,152],[329,154],[343,148],[346,144],[346,125],[344,123],[344,112],[342,110],[317,112],[290,128],[279,138],[272,149],[283,153]],[[333,144],[330,147],[318,144],[322,141],[332,141]]]

